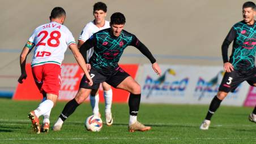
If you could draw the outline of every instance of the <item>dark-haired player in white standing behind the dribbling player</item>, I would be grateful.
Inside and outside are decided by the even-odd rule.
[[[103,2],[97,2],[93,5],[93,16],[94,20],[90,21],[83,28],[82,33],[78,39],[78,48],[83,45],[83,43],[92,36],[93,33],[98,32],[99,30],[110,28],[109,21],[105,20],[107,7]],[[93,54],[93,48],[87,51],[87,62],[91,58]],[[87,64],[88,67],[89,64]],[[106,82],[102,83],[104,90],[104,99],[105,99],[105,117],[106,117],[106,125],[110,126],[113,124],[112,113],[111,113],[111,105],[112,105],[112,89],[109,84]],[[100,116],[99,112],[99,93],[98,91],[93,90],[90,94],[90,102],[92,106],[93,115]]]

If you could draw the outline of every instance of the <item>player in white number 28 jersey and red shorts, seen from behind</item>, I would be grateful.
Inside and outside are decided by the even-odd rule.
[[[50,15],[50,23],[37,27],[20,54],[21,75],[18,82],[21,84],[27,78],[25,62],[29,52],[35,47],[31,63],[33,77],[37,88],[44,95],[44,99],[36,110],[29,112],[28,118],[31,120],[33,130],[40,133],[39,117],[44,115],[41,127],[43,132],[49,130],[49,116],[54,104],[57,101],[59,90],[61,89],[61,63],[67,47],[70,48],[79,66],[83,69],[88,84],[92,85],[92,79],[87,71],[83,56],[79,53],[75,39],[70,30],[62,25],[66,18],[66,12],[61,7],[53,8]]]

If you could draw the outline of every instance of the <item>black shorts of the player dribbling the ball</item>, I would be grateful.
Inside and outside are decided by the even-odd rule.
[[[113,86],[114,88],[117,88],[117,86],[123,80],[125,80],[126,77],[130,76],[121,67],[117,67],[112,71],[109,71],[108,75],[104,75],[103,73],[97,71],[95,68],[92,67],[89,74],[91,75],[93,85],[92,86],[88,85],[86,75],[84,75],[82,77],[82,80],[80,81],[79,88],[97,90],[99,89],[101,82],[106,82],[109,85]]]

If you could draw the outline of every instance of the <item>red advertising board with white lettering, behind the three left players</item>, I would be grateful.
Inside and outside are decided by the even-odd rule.
[[[132,77],[136,77],[136,72],[138,69],[138,64],[121,64],[127,73]],[[15,100],[40,100],[42,99],[42,94],[37,89],[35,81],[33,80],[31,65],[26,64],[27,69],[27,79],[24,80],[23,84],[18,84],[15,91],[13,99]],[[59,101],[69,101],[75,97],[79,89],[80,80],[83,77],[84,73],[82,69],[79,68],[78,64],[62,64],[61,72],[61,91],[58,97]],[[103,89],[100,87],[100,102],[104,102],[103,98]],[[129,93],[113,88],[113,102],[127,102],[129,98]],[[87,100],[88,101],[88,98]]]

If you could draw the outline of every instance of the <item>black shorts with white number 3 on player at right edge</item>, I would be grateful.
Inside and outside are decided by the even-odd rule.
[[[244,81],[247,81],[251,86],[256,84],[256,68],[250,69],[248,71],[234,70],[232,72],[226,72],[221,81],[219,91],[229,93],[229,91],[234,91],[237,86]]]

